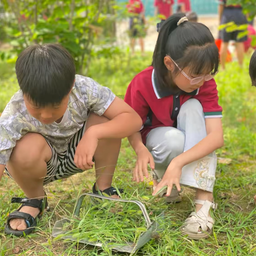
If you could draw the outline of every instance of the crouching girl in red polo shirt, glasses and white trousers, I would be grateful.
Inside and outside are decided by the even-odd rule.
[[[143,121],[141,131],[129,137],[138,156],[133,179],[148,177],[149,163],[153,195],[167,186],[166,201],[177,202],[180,183],[195,188],[196,211],[181,227],[194,239],[207,238],[214,224],[214,150],[223,145],[222,108],[213,79],[218,66],[210,30],[174,14],[162,23],[151,67],[135,76],[125,95]]]

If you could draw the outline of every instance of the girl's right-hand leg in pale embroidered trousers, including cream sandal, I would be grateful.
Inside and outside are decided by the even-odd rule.
[[[182,105],[178,116],[178,129],[186,136],[184,151],[206,137],[203,107],[198,100],[190,99]],[[195,213],[191,213],[181,228],[182,233],[190,238],[207,238],[212,233],[214,220],[210,217],[210,209],[215,208],[212,191],[216,167],[217,157],[213,152],[182,169],[180,183],[197,189]]]

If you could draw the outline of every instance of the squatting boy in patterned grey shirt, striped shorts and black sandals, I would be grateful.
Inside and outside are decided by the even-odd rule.
[[[22,236],[47,209],[43,186],[91,169],[94,160],[93,193],[117,197],[111,182],[121,138],[139,131],[142,121],[108,88],[75,75],[60,45],[29,46],[15,69],[20,91],[0,117],[0,179],[5,170],[27,196],[12,199],[22,205],[5,226],[6,234]]]

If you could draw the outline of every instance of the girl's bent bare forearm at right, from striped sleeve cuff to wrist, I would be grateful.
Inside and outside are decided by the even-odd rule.
[[[190,148],[173,159],[179,166],[183,167],[197,161],[223,146],[224,140],[221,118],[206,118],[205,124],[207,136],[193,148]]]

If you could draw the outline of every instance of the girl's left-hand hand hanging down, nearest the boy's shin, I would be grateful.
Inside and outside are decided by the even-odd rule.
[[[155,169],[155,163],[153,156],[145,146],[137,152],[137,156],[137,163],[133,170],[133,181],[140,182],[144,180],[143,175],[148,178],[148,164],[150,164],[151,169]]]

